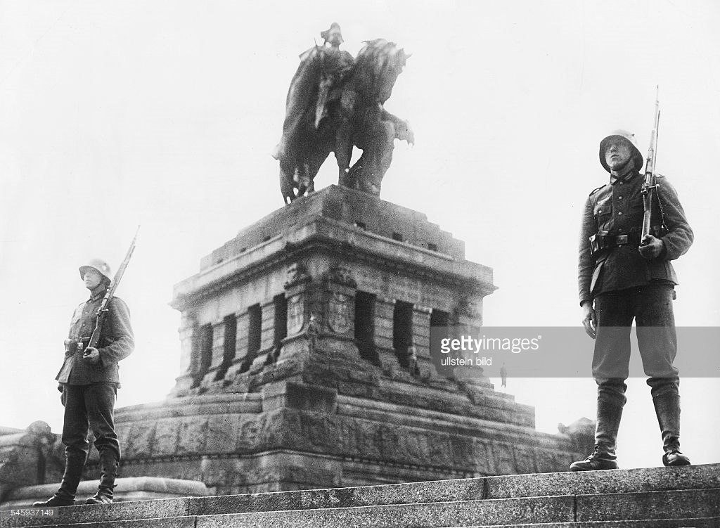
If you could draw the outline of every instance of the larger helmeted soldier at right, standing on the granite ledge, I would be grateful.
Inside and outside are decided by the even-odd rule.
[[[637,338],[647,385],[662,434],[666,466],[688,465],[680,452],[680,396],[672,300],[678,278],[670,261],[685,254],[693,231],[675,189],[657,176],[651,234],[640,239],[644,214],[642,154],[624,130],[600,141],[600,164],[610,181],[590,193],[580,234],[578,286],[582,324],[595,339],[593,377],[598,384],[595,450],[573,462],[574,471],[618,467],[615,445],[625,404],[630,328]]]

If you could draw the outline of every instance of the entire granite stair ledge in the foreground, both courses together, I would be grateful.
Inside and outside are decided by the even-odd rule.
[[[71,527],[95,523],[96,526],[140,528],[167,523],[184,527],[192,523],[193,528],[383,528],[521,526],[524,523],[539,527],[698,524],[717,528],[720,527],[720,523],[716,523],[720,518],[719,479],[718,464],[505,475],[75,506],[60,509],[55,519],[0,518],[0,527]],[[677,519],[698,521],[672,524]]]

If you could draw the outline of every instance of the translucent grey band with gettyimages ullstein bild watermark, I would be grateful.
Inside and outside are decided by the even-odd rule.
[[[593,364],[601,339],[611,359]],[[430,332],[431,362],[448,377],[720,377],[719,345],[716,326],[601,328],[595,340],[582,326],[433,326]]]

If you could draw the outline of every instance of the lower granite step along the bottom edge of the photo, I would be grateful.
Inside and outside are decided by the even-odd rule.
[[[147,501],[160,503],[163,501]],[[122,506],[143,505],[142,502]],[[147,505],[146,505],[147,506]],[[215,504],[220,506],[220,504]],[[171,522],[174,526],[194,528],[420,528],[420,527],[476,527],[512,526],[516,524],[554,523],[574,526],[574,522],[588,526],[603,526],[608,521],[637,521],[656,524],[660,521],[672,526],[668,519],[710,518],[720,516],[720,489],[650,491],[640,493],[610,493],[595,496],[544,496],[523,498],[482,499],[435,503],[389,504],[382,506],[329,507],[323,509],[293,509],[279,511],[249,511],[246,513],[193,514],[192,511],[172,512],[163,519],[145,518],[136,511],[135,520],[109,520],[114,506],[76,506],[61,509],[58,519],[42,522],[15,523],[6,526],[82,526],[95,523],[99,527],[122,526],[141,528]],[[223,511],[223,509],[220,509]],[[225,510],[227,511],[227,510]],[[161,513],[156,512],[156,517]],[[166,511],[166,514],[171,512]],[[172,521],[170,520],[172,519]],[[5,519],[4,519],[5,520]],[[40,520],[40,519],[38,519]],[[57,520],[67,522],[58,523]],[[79,522],[78,522],[79,521]],[[569,524],[570,523],[570,524]],[[600,524],[598,524],[600,523]],[[622,526],[622,524],[619,524]],[[692,524],[691,524],[692,525]],[[552,524],[551,524],[552,526]],[[612,526],[612,524],[611,524]],[[642,523],[636,524],[642,526]],[[682,526],[682,524],[681,524]]]

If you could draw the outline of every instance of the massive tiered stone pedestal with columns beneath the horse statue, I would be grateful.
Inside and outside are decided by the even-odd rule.
[[[122,476],[228,494],[567,470],[584,454],[534,408],[431,364],[431,326],[481,326],[494,290],[420,212],[337,186],[295,200],[176,285],[183,372],[117,410]]]

